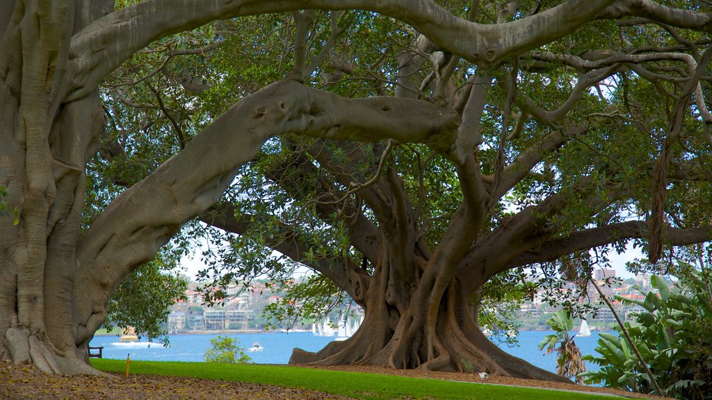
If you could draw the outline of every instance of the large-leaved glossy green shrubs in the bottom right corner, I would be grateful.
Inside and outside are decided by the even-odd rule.
[[[624,323],[644,362],[668,396],[679,399],[708,399],[712,391],[712,295],[709,292],[711,274],[692,265],[680,263],[676,270],[679,281],[670,290],[659,275],[651,277],[655,291],[642,293],[644,299],[617,300],[637,305],[634,321]],[[596,352],[584,359],[601,369],[583,374],[589,384],[603,382],[605,386],[651,393],[650,378],[617,328],[619,335],[600,334]]]

